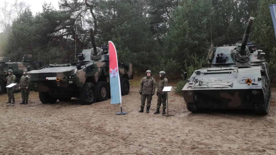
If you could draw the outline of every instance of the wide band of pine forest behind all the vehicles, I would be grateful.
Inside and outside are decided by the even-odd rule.
[[[182,70],[191,76],[202,67],[211,43],[233,44],[242,38],[253,16],[250,40],[266,53],[274,81],[276,43],[268,7],[274,2],[95,0],[87,1],[93,6],[89,7],[84,1],[60,0],[58,11],[44,3],[42,12],[33,16],[25,10],[1,33],[1,56],[20,61],[32,54],[47,64],[76,61],[82,49],[91,47],[91,28],[98,47],[114,42],[119,61],[131,62],[143,72],[166,71],[175,80]]]

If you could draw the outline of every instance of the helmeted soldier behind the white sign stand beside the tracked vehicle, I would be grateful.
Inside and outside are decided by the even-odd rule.
[[[157,93],[156,95],[158,96],[157,98],[157,109],[154,112],[154,114],[159,114],[159,108],[161,106],[161,103],[163,104],[163,111],[162,111],[162,115],[165,114],[165,109],[166,109],[166,99],[167,99],[167,92],[162,92],[163,88],[168,86],[168,79],[166,78],[166,73],[164,71],[160,71],[159,72],[159,76],[160,76],[160,81],[158,84],[158,88],[157,88]]]

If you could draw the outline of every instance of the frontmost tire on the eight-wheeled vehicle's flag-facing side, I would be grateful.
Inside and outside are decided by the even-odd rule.
[[[95,85],[90,82],[85,83],[79,95],[81,104],[83,105],[93,104],[96,101],[96,97],[97,97],[97,92],[96,92]]]

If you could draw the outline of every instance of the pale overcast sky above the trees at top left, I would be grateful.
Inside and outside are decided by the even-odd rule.
[[[5,0],[0,0],[0,4],[1,6],[3,6],[3,3],[4,3]],[[13,4],[14,3],[14,0],[6,0],[9,5]],[[26,2],[26,4],[30,4],[31,7],[31,11],[32,11],[32,14],[35,15],[36,12],[42,12],[42,5],[44,2],[46,2],[47,4],[50,4],[53,5],[53,7],[55,9],[59,9],[58,8],[58,0],[17,0],[17,3],[21,2],[21,1],[24,1]]]

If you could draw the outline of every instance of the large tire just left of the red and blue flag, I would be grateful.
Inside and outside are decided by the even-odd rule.
[[[97,90],[97,101],[105,101],[108,98],[109,89],[108,89],[108,84],[104,81],[99,81],[96,85],[96,90]]]

